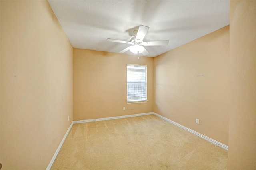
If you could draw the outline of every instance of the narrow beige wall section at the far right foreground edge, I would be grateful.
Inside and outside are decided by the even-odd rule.
[[[228,169],[256,169],[256,1],[230,1]]]

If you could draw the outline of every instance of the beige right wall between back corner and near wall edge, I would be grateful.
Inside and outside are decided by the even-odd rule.
[[[154,58],[154,112],[227,145],[228,76],[226,26]]]

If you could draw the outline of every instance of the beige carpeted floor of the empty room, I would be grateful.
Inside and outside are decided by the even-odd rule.
[[[228,152],[156,115],[74,124],[52,170],[223,170]]]

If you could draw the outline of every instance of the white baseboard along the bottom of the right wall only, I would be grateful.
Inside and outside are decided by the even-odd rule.
[[[198,132],[196,132],[196,131],[194,131],[194,130],[192,130],[192,129],[190,129],[190,128],[184,127],[183,125],[180,125],[180,124],[178,124],[178,123],[176,123],[176,122],[174,122],[174,121],[172,121],[172,120],[170,120],[170,119],[167,119],[166,117],[163,117],[163,116],[161,116],[161,115],[158,115],[157,113],[154,113],[154,112],[153,112],[153,114],[156,115],[156,116],[158,116],[158,117],[160,117],[160,118],[162,118],[162,119],[164,119],[164,120],[166,120],[166,121],[168,121],[168,122],[170,122],[170,123],[172,123],[172,124],[174,124],[174,125],[176,125],[176,126],[178,126],[178,127],[180,127],[180,128],[183,128],[183,129],[185,129],[185,130],[187,130],[187,131],[189,131],[189,132],[195,134],[196,136],[199,136],[200,138],[203,138],[204,140],[207,140],[208,142],[211,142],[212,144],[215,144],[216,146],[219,146],[220,148],[223,148],[223,149],[225,149],[225,150],[228,150],[228,146],[225,145],[225,144],[222,144],[222,143],[220,143],[220,142],[218,142],[218,141],[216,141],[216,140],[214,140],[214,139],[212,139],[212,138],[209,138],[209,137],[207,137],[207,136],[204,136],[203,134],[200,134],[200,133],[198,133]]]

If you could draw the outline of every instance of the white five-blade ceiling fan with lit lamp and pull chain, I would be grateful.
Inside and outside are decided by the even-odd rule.
[[[138,56],[139,56],[139,53],[142,53],[143,55],[149,54],[148,51],[143,46],[168,45],[169,40],[143,42],[143,39],[148,32],[148,29],[149,29],[149,27],[140,25],[138,30],[133,31],[134,37],[132,37],[128,41],[115,40],[115,39],[111,39],[111,38],[108,38],[107,41],[132,44],[131,46],[127,47],[126,49],[123,49],[119,53],[124,53],[124,52],[130,50],[132,53],[135,53],[135,54],[137,53]],[[138,59],[139,59],[139,57],[138,57]]]

